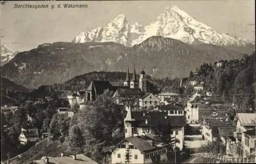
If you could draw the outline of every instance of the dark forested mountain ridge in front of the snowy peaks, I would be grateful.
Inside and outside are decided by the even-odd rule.
[[[1,67],[1,76],[27,88],[63,83],[92,71],[122,71],[135,64],[153,77],[186,77],[202,63],[239,59],[243,53],[212,44],[190,45],[182,41],[151,37],[125,47],[113,42],[42,44],[19,52]],[[131,68],[133,69],[133,68]]]

